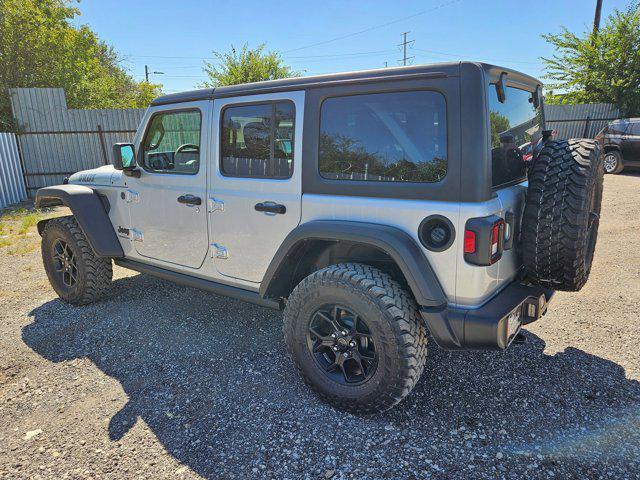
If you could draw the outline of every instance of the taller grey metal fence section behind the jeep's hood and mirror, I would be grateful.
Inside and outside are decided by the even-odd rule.
[[[68,109],[61,88],[13,88],[29,196],[79,170],[111,163],[111,146],[133,140],[144,109]]]

